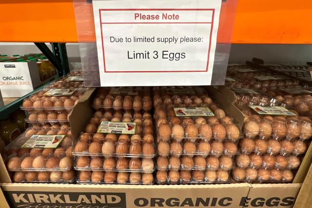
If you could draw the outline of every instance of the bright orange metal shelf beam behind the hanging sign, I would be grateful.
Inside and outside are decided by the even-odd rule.
[[[231,42],[312,44],[311,14],[311,0],[237,0]],[[95,42],[94,25],[85,30],[79,39]],[[0,42],[78,42],[73,1],[0,0]]]

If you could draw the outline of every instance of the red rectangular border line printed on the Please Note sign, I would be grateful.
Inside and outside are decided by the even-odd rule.
[[[99,9],[98,11],[99,11],[99,21],[100,21],[100,27],[101,27],[104,73],[207,72],[208,71],[209,55],[210,55],[210,48],[211,48],[211,36],[212,36],[212,31],[213,31],[213,26],[214,26],[215,9]],[[213,15],[212,15],[211,22],[102,22],[101,11],[212,11]],[[197,70],[197,71],[107,71],[106,70],[102,24],[182,24],[182,23],[184,24],[211,24],[206,70]]]

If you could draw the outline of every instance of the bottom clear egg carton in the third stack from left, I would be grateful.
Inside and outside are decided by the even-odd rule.
[[[225,170],[157,170],[156,184],[227,184],[231,177]]]

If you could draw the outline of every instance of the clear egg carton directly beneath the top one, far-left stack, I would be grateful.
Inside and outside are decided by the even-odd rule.
[[[25,111],[27,123],[32,124],[45,124],[45,123],[69,123],[69,115],[71,114],[72,109],[68,110],[30,110]]]

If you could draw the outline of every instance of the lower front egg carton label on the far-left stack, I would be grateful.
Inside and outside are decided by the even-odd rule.
[[[57,148],[65,135],[33,135],[21,148]]]

